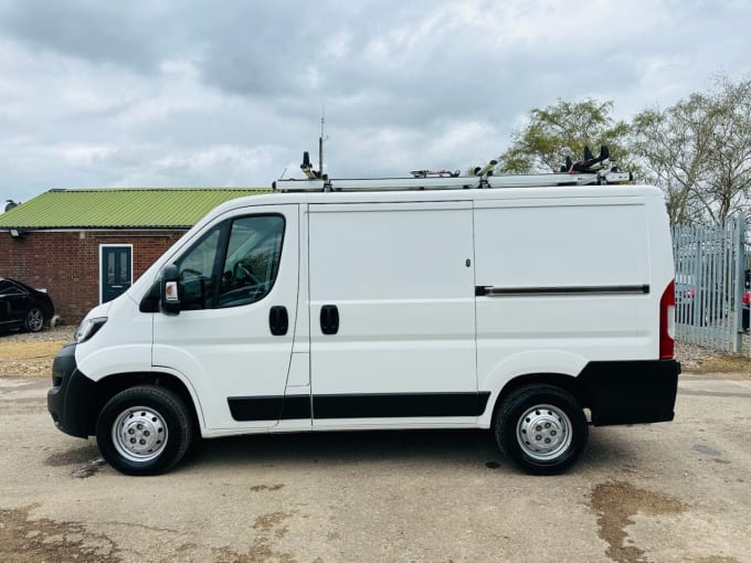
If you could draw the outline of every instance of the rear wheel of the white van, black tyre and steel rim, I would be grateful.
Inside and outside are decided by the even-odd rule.
[[[535,432],[535,434],[532,434]],[[501,453],[532,475],[565,471],[586,445],[584,411],[569,392],[552,385],[512,391],[495,419]]]

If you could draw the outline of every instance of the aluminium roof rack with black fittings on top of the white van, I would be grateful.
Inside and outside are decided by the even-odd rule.
[[[503,174],[493,176],[497,160],[490,160],[484,167],[474,170],[475,176],[458,176],[458,171],[445,170],[412,171],[411,178],[370,178],[370,179],[330,179],[326,174],[311,170],[308,153],[303,157],[300,168],[307,179],[276,180],[274,190],[283,192],[340,192],[340,191],[398,191],[398,190],[468,190],[488,188],[542,188],[554,185],[605,185],[623,184],[632,180],[630,172],[623,172],[610,159],[610,151],[603,145],[600,156],[594,158],[584,148],[584,160],[561,167],[561,172],[541,174]],[[612,166],[611,166],[612,164]]]

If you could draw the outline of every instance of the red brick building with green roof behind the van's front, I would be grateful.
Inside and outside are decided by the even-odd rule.
[[[125,291],[199,219],[255,189],[51,190],[0,215],[0,277],[44,288],[77,323]]]

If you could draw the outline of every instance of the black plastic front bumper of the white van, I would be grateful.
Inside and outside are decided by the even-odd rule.
[[[52,389],[47,391],[47,411],[57,428],[80,438],[94,433],[94,386],[76,367],[75,344],[63,348],[52,363]]]

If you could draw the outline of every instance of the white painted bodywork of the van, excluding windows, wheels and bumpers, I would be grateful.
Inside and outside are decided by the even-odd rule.
[[[284,216],[285,231],[263,299],[139,311],[161,269],[204,233],[264,214]],[[207,437],[488,427],[518,378],[573,381],[592,363],[656,361],[671,279],[655,188],[256,195],[219,206],[107,311],[92,311],[109,320],[75,358],[95,382],[178,378]],[[269,332],[273,306],[288,314],[283,336]],[[324,333],[326,306],[336,307],[336,333]],[[254,418],[258,405],[277,412],[274,402],[278,416]]]

